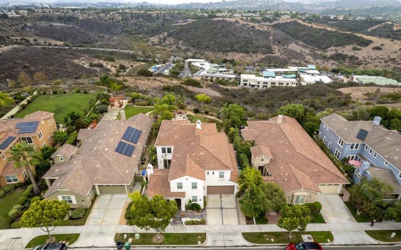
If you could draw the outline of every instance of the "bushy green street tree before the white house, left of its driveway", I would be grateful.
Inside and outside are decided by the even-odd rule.
[[[164,232],[170,219],[177,213],[175,200],[165,200],[163,196],[155,194],[152,199],[141,196],[138,191],[130,194],[132,200],[131,222],[136,226],[149,230],[153,228],[160,238],[160,232]]]

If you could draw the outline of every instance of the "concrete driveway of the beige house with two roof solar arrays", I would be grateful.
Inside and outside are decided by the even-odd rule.
[[[86,225],[118,225],[129,202],[126,194],[100,194],[97,196]]]

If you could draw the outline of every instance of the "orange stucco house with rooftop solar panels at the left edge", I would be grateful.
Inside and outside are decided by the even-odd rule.
[[[44,145],[51,145],[53,132],[57,130],[54,113],[36,111],[24,118],[0,120],[0,186],[8,183],[24,182],[27,172],[23,168],[14,168],[13,162],[7,162],[11,155],[10,147],[19,142],[27,142],[39,150]],[[31,170],[35,174],[35,168]]]

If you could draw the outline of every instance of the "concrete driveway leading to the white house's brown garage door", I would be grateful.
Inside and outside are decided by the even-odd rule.
[[[234,194],[208,194],[206,219],[208,225],[238,225],[238,210]]]

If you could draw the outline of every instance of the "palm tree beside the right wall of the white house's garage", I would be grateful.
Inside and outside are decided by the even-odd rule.
[[[252,166],[245,167],[238,178],[239,191],[258,192],[259,185],[263,182],[261,172]]]

